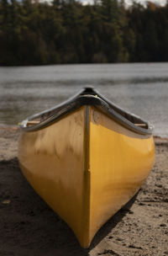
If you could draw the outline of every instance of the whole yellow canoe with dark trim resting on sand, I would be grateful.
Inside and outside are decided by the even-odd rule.
[[[83,248],[134,196],[155,161],[150,125],[92,88],[20,127],[24,176]]]

